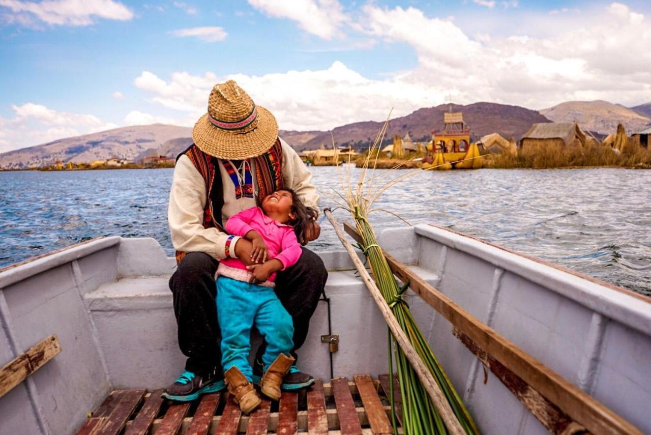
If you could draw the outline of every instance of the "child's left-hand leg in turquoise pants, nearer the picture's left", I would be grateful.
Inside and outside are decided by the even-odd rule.
[[[256,292],[249,283],[227,277],[217,278],[217,320],[221,329],[221,365],[224,371],[238,367],[247,380],[253,379],[248,356],[251,352],[251,326],[258,309]]]

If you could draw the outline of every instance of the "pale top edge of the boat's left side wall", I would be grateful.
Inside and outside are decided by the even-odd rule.
[[[116,246],[121,241],[122,237],[120,236],[98,237],[10,264],[0,268],[0,289],[74,260],[81,259],[82,257],[87,257],[98,251]]]

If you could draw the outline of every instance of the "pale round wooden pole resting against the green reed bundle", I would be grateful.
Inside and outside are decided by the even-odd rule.
[[[402,348],[402,352],[404,352],[407,359],[409,359],[409,363],[411,363],[411,367],[413,367],[414,371],[421,380],[422,386],[427,390],[427,393],[430,395],[432,402],[434,402],[436,409],[438,410],[439,414],[441,414],[441,417],[443,417],[445,427],[447,427],[450,434],[465,434],[464,428],[459,423],[456,415],[454,415],[454,412],[452,412],[452,408],[450,408],[450,404],[445,398],[445,395],[443,395],[443,392],[434,380],[434,376],[432,376],[432,373],[428,371],[424,363],[422,363],[421,358],[419,358],[416,350],[413,348],[413,346],[411,346],[411,343],[409,343],[407,335],[400,328],[400,325],[391,312],[389,305],[387,305],[387,302],[385,302],[384,298],[382,297],[380,289],[376,285],[375,281],[373,281],[372,277],[370,277],[368,274],[368,271],[364,267],[364,264],[361,262],[361,260],[359,260],[359,257],[357,257],[357,254],[355,253],[350,242],[346,240],[346,236],[344,236],[344,233],[341,231],[339,223],[337,223],[335,218],[332,216],[330,210],[326,209],[324,211],[324,214],[326,214],[328,220],[334,227],[335,232],[337,232],[337,236],[339,237],[341,244],[348,252],[348,255],[350,255],[350,259],[353,260],[353,264],[355,264],[355,268],[357,268],[362,281],[364,281],[365,285],[368,288],[368,291],[375,300],[376,305],[378,305],[378,308],[380,309],[384,320],[387,322],[387,325],[389,325],[389,329],[391,329],[393,337],[395,338],[400,348]]]

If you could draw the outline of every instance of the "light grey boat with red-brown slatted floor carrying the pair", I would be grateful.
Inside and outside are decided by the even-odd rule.
[[[378,241],[482,432],[651,433],[649,298],[432,225]],[[0,270],[0,433],[392,433],[387,323],[352,257],[320,256],[327,297],[298,352],[319,380],[246,416],[227,393],[161,399],[184,356],[175,263],[156,240],[105,237]]]

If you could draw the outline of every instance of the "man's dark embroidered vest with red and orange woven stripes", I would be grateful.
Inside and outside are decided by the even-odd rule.
[[[221,208],[224,205],[224,186],[219,173],[219,159],[206,154],[197,147],[190,145],[187,150],[176,157],[186,155],[197,171],[201,174],[206,184],[206,206],[204,206],[203,226],[204,228],[217,228],[224,231],[221,221]],[[283,148],[280,139],[269,148],[268,152],[251,160],[255,161],[255,178],[258,183],[257,203],[267,195],[283,188]],[[176,251],[176,263],[178,264],[186,253]]]

